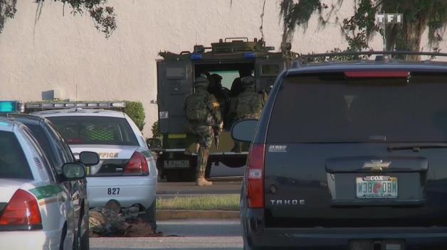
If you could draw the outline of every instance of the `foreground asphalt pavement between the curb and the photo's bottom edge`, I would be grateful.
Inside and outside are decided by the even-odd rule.
[[[158,224],[165,237],[91,238],[90,249],[242,249],[238,220],[171,220]]]

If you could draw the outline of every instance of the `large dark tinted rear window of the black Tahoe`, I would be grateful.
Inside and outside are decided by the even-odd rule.
[[[268,143],[447,141],[447,77],[346,80],[343,74],[285,78]]]

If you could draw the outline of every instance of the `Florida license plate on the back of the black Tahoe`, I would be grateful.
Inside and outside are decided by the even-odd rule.
[[[356,178],[357,199],[396,199],[397,188],[396,177],[376,175]]]

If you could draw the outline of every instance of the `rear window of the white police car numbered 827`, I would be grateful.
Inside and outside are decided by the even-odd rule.
[[[47,117],[68,144],[138,146],[126,119],[107,116]]]

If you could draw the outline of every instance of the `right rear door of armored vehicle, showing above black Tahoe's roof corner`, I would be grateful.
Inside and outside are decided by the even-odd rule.
[[[285,68],[285,59],[283,57],[256,58],[255,75],[256,89],[270,92],[276,77]]]

